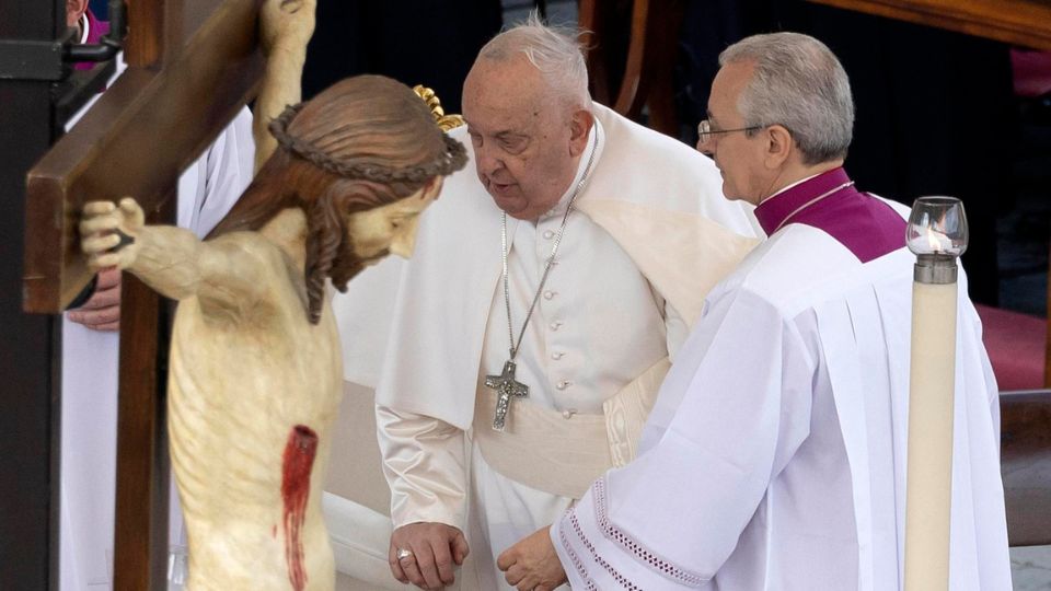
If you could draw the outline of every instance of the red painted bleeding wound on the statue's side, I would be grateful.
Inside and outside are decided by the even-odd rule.
[[[304,425],[297,425],[288,433],[285,461],[281,467],[281,498],[285,500],[285,559],[292,589],[302,591],[307,584],[303,569],[303,540],[301,531],[307,517],[310,496],[310,471],[317,451],[317,434]]]

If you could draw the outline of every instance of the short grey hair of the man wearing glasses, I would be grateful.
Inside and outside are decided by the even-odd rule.
[[[823,43],[772,33],[746,37],[719,55],[720,67],[742,61],[755,65],[737,104],[746,126],[785,126],[806,164],[846,158],[854,100],[843,66]]]

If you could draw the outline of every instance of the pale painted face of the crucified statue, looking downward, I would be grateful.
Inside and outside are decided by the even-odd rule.
[[[404,199],[349,216],[347,234],[362,265],[376,265],[388,254],[413,255],[419,215],[438,198],[442,178],[436,177]]]

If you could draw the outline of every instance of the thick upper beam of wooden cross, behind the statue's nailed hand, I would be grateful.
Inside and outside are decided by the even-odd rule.
[[[131,195],[157,210],[252,95],[264,63],[256,50],[261,0],[194,0],[185,15],[174,8],[182,4],[131,3],[128,70],[30,171],[26,312],[59,313],[90,280],[76,234],[84,200]],[[172,21],[199,24],[184,35],[182,26],[161,24]]]

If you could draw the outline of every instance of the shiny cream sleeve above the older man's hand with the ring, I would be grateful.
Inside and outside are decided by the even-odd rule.
[[[442,420],[377,405],[394,528],[438,522],[465,530],[466,437]]]

